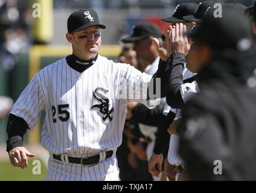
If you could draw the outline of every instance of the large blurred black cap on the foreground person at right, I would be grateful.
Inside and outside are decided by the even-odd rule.
[[[251,24],[241,12],[223,8],[222,17],[207,14],[202,24],[187,35],[209,45],[214,51],[234,50],[245,52],[251,49]]]

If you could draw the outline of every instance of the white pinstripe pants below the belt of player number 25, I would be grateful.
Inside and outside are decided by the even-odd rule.
[[[49,158],[46,181],[120,181],[115,153],[112,157],[92,166],[63,163]]]

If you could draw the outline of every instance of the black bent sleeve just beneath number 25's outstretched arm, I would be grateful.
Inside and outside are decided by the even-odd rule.
[[[145,125],[159,127],[164,118],[162,108],[148,109],[144,104],[138,103],[132,110],[132,120]]]

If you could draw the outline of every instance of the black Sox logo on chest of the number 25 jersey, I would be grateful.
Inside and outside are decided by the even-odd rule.
[[[107,118],[109,118],[109,121],[112,121],[112,116],[110,115],[114,109],[112,107],[112,109],[109,110],[109,99],[106,96],[101,95],[99,90],[102,90],[104,93],[109,92],[109,90],[103,89],[101,87],[97,87],[97,89],[94,90],[93,96],[95,100],[99,101],[101,104],[95,104],[94,106],[91,107],[91,109],[93,108],[100,109],[100,113],[104,115],[103,121],[105,121]]]

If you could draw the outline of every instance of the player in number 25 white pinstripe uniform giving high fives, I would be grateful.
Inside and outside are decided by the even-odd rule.
[[[11,109],[7,151],[13,166],[27,167],[27,156],[34,156],[22,147],[23,135],[34,130],[45,110],[42,142],[50,153],[45,180],[120,180],[115,152],[127,103],[153,108],[158,100],[149,100],[152,76],[98,55],[100,28],[105,26],[94,10],[69,16],[66,39],[73,54],[34,75]],[[160,60],[159,69],[164,65]]]

